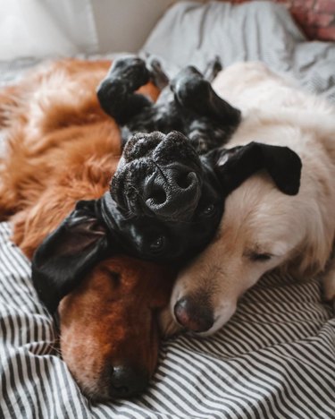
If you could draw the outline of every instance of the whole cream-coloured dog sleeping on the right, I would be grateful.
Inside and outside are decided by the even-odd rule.
[[[327,266],[335,237],[335,108],[260,63],[230,66],[214,89],[243,112],[229,147],[286,145],[303,169],[296,196],[279,192],[263,172],[232,192],[213,243],[180,272],[173,320],[204,335],[229,321],[239,297],[274,268],[296,278],[328,268],[324,292],[335,298],[335,263]],[[174,321],[166,312],[167,333],[175,330]]]

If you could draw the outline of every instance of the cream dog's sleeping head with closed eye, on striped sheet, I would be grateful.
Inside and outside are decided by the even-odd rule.
[[[296,196],[281,193],[266,174],[232,192],[212,244],[180,272],[172,291],[170,334],[181,327],[208,335],[235,312],[239,297],[276,267],[304,276],[324,268],[331,250],[331,210],[306,178]],[[310,199],[308,200],[308,197]],[[325,198],[325,197],[324,197]],[[172,318],[171,318],[172,315]]]

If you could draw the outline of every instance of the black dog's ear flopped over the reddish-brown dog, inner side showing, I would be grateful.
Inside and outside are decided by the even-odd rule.
[[[107,230],[96,217],[96,201],[79,201],[71,214],[38,246],[32,280],[40,300],[54,312],[107,251]]]

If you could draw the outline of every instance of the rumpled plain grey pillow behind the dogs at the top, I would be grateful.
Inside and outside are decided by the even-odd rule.
[[[335,102],[335,43],[307,41],[279,4],[181,2],[157,23],[141,54],[160,57],[171,75],[188,64],[203,70],[214,56],[223,66],[260,60]]]

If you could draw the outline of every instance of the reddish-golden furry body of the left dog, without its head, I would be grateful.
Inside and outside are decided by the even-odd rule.
[[[0,173],[1,217],[17,214],[13,240],[29,257],[75,201],[108,189],[121,155],[120,134],[95,90],[109,65],[64,60],[0,95],[0,121],[9,137]],[[153,85],[144,91],[158,95]]]

